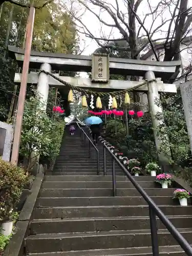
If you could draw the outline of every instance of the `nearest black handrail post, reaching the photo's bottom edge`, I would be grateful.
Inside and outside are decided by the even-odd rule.
[[[148,208],[150,210],[150,226],[151,226],[153,256],[159,256],[156,214],[153,211],[152,207],[148,206]]]

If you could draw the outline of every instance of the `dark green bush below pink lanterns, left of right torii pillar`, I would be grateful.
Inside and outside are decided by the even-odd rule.
[[[157,152],[154,142],[151,118],[131,119],[129,122],[129,133],[126,135],[125,124],[122,120],[116,120],[117,134],[115,134],[115,120],[108,119],[104,137],[111,144],[117,146],[124,156],[138,158],[141,166],[150,161],[157,161]]]

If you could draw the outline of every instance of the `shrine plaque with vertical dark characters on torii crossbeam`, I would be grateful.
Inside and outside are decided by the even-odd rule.
[[[109,55],[94,53],[92,56],[92,82],[108,82],[109,73]]]

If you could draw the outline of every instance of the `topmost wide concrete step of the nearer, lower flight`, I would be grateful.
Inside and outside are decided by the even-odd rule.
[[[152,176],[134,176],[134,179],[136,181],[155,181],[156,177]],[[89,176],[89,175],[80,175],[80,176],[45,176],[44,178],[45,181],[112,181],[111,176]],[[124,181],[127,180],[129,181],[128,178],[125,176],[116,176],[117,181]]]

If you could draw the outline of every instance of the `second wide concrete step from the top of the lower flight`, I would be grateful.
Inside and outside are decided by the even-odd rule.
[[[139,181],[143,188],[158,187],[154,181]],[[131,181],[117,181],[117,188],[134,188]],[[45,181],[42,188],[113,188],[112,181]]]

